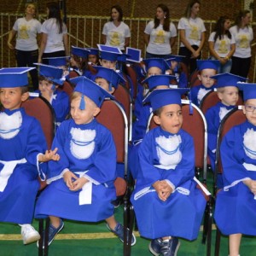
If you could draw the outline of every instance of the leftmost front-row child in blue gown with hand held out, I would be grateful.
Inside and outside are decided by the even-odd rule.
[[[24,244],[40,238],[31,223],[40,187],[38,176],[44,181],[47,171],[43,162],[59,159],[56,149],[44,154],[47,146],[41,125],[20,108],[28,98],[29,70],[0,70],[0,99],[4,108],[0,113],[0,222],[20,224]]]

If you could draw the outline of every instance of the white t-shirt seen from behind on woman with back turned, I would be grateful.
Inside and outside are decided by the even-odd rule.
[[[47,43],[44,53],[64,50],[63,35],[67,34],[67,26],[63,23],[62,32],[59,33],[59,26],[56,24],[55,18],[45,20],[41,32],[47,34]]]

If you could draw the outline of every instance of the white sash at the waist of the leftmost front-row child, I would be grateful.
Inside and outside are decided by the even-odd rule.
[[[13,161],[1,161],[0,163],[3,164],[3,169],[0,172],[0,192],[3,192],[3,190],[5,189],[9,177],[12,175],[12,173],[15,170],[15,166],[17,166],[18,164],[25,164],[26,163],[26,159],[23,158],[21,160],[13,160]]]

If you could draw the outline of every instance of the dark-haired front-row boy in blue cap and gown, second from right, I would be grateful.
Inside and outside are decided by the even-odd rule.
[[[131,202],[141,236],[153,239],[154,255],[176,255],[177,236],[198,236],[206,200],[196,183],[193,138],[181,129],[184,89],[154,90],[146,102],[159,127],[148,131],[138,151],[140,170]]]

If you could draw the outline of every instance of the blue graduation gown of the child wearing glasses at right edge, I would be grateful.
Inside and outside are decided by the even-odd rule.
[[[248,121],[233,127],[224,137],[220,153],[224,189],[218,192],[215,220],[224,235],[256,236],[256,200],[243,180],[256,180],[256,126]]]

